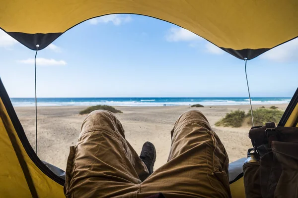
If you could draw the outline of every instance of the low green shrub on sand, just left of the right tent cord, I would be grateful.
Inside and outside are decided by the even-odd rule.
[[[227,113],[224,118],[215,123],[215,126],[241,127],[245,118],[245,111],[235,110]]]

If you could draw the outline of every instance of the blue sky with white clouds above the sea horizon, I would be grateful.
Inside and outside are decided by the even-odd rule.
[[[252,97],[292,97],[298,40],[247,62]],[[0,30],[0,78],[34,97],[35,51]],[[139,15],[85,21],[37,54],[38,97],[247,97],[244,61],[173,24]]]

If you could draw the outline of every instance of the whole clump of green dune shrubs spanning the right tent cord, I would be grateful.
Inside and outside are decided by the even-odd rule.
[[[254,124],[265,125],[266,122],[275,122],[276,124],[280,121],[284,114],[284,111],[279,109],[268,109],[268,108],[257,108],[253,110]],[[235,110],[227,113],[224,118],[217,121],[215,126],[224,127],[241,127],[243,124],[252,125],[251,111],[249,110],[246,114],[243,110]]]

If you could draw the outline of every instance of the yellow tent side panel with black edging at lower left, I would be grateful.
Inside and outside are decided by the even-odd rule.
[[[1,81],[0,148],[1,197],[64,197],[64,180],[35,154]]]

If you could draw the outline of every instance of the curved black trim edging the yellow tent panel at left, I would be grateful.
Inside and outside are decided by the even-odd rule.
[[[2,99],[2,102],[6,108],[6,111],[11,119],[11,122],[13,124],[13,127],[15,128],[15,131],[18,135],[18,138],[20,139],[23,147],[25,148],[25,151],[27,152],[30,159],[33,161],[33,163],[49,178],[57,182],[58,184],[64,186],[65,180],[57,176],[55,173],[53,173],[36,155],[35,151],[31,147],[26,134],[24,132],[24,129],[14,111],[14,108],[11,104],[11,101],[7,95],[7,92],[3,86],[3,83],[0,79],[0,98]],[[13,144],[13,142],[11,142]],[[15,145],[13,145],[15,148]]]

